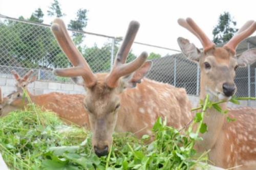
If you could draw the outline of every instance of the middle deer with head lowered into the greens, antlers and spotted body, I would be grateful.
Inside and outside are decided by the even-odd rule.
[[[175,128],[183,127],[193,117],[184,89],[143,79],[152,65],[151,61],[145,61],[145,52],[125,64],[139,29],[137,21],[131,21],[110,73],[93,74],[61,19],[55,19],[51,29],[74,66],[55,69],[54,74],[82,77],[75,81],[87,91],[83,104],[89,113],[92,145],[98,156],[108,154],[114,130],[132,132],[140,138],[151,135],[157,117],[166,117],[168,125]]]

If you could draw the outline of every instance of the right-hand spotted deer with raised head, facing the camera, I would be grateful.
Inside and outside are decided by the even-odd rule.
[[[236,47],[243,39],[256,30],[256,22],[248,21],[223,47],[215,44],[205,35],[191,18],[179,19],[178,23],[193,33],[202,43],[201,52],[187,39],[178,38],[184,55],[201,68],[200,99],[209,94],[211,101],[228,101],[236,93],[234,84],[236,68],[247,66],[256,61],[256,49],[236,55]],[[227,104],[221,104],[223,110]],[[202,134],[203,141],[197,143],[199,151],[210,150],[209,160],[224,168],[239,166],[236,169],[256,169],[256,109],[229,109],[229,116],[236,122],[227,123],[227,115],[214,108],[207,110],[204,122],[208,132]]]

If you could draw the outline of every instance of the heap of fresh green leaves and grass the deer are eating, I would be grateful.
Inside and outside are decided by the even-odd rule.
[[[155,140],[132,134],[114,134],[108,156],[98,158],[91,134],[67,126],[51,112],[30,104],[0,119],[0,152],[10,169],[190,169],[206,156],[193,149],[195,139],[181,135],[158,119]]]

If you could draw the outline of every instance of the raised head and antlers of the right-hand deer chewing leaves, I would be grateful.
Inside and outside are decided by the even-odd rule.
[[[223,47],[216,47],[205,33],[191,18],[179,19],[180,26],[193,33],[202,43],[201,52],[187,39],[178,38],[178,43],[184,55],[201,68],[201,93],[208,93],[211,100],[228,100],[237,87],[234,84],[235,70],[256,61],[256,49],[252,48],[236,55],[236,47],[256,30],[256,22],[247,21],[245,25]],[[204,96],[204,94],[202,94]]]

